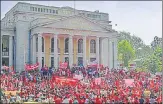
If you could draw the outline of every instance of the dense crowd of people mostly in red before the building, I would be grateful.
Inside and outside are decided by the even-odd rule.
[[[80,79],[74,79],[80,75]],[[4,72],[1,78],[3,103],[45,102],[69,104],[161,103],[161,75],[123,69],[73,67],[22,73]],[[68,84],[56,79],[74,79]],[[99,79],[98,83],[96,79]],[[125,79],[133,79],[128,85]],[[6,91],[17,91],[16,94]]]

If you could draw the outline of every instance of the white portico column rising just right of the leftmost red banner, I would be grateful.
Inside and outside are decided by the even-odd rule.
[[[42,67],[42,36],[41,34],[38,34],[38,62],[39,62],[39,68]]]

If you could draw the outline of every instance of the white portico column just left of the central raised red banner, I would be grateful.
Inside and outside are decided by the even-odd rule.
[[[57,39],[58,39],[58,34],[55,34],[54,35],[54,67],[55,68],[58,68],[58,42],[57,42]]]

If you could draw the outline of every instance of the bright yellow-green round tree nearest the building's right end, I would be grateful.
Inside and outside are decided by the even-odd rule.
[[[118,58],[121,60],[125,67],[128,67],[129,61],[135,56],[135,51],[127,40],[121,40],[118,43]]]

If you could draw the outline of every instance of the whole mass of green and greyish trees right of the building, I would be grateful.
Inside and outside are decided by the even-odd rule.
[[[138,70],[151,71],[153,73],[161,71],[161,47],[154,48],[153,50],[151,46],[146,45],[141,38],[131,35],[129,32],[121,31],[119,32],[119,35],[119,61],[122,61],[125,66],[127,66],[130,61],[139,60],[136,61],[136,64],[139,67]]]

